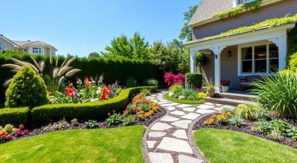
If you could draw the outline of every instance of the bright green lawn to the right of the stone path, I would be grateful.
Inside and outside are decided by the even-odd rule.
[[[195,131],[193,137],[211,163],[297,160],[297,150],[246,133],[205,128]]]

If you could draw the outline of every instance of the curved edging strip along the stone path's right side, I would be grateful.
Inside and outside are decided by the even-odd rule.
[[[193,127],[194,125],[196,124],[197,121],[199,121],[201,118],[205,117],[205,116],[208,116],[208,115],[211,115],[211,114],[215,114],[217,112],[214,112],[214,113],[209,113],[209,114],[205,114],[205,115],[202,115],[202,116],[199,116],[197,119],[195,119],[190,125],[189,125],[189,128],[188,128],[188,139],[189,139],[189,142],[195,152],[195,154],[198,156],[199,159],[203,160],[203,163],[208,163],[207,159],[203,156],[203,153],[200,151],[200,149],[198,148],[198,146],[196,146],[195,144],[195,141],[193,139]]]

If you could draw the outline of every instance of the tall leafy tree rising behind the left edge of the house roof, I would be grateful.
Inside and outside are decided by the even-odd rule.
[[[196,9],[198,8],[198,5],[195,5],[193,7],[189,6],[189,11],[184,12],[184,19],[186,22],[184,23],[184,27],[181,28],[181,33],[179,34],[179,38],[186,41],[192,41],[192,31],[190,28],[186,27],[186,25],[191,20],[192,16],[194,15]]]

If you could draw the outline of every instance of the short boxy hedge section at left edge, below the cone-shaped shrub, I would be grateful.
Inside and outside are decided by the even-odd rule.
[[[26,124],[29,116],[29,108],[3,108],[0,109],[0,126],[12,124],[18,126]]]

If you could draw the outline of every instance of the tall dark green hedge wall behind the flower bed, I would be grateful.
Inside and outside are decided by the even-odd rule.
[[[4,53],[0,54],[0,65],[6,63],[12,63],[10,57],[24,60],[33,63],[28,54],[17,54],[17,53]],[[35,60],[45,60],[45,65],[49,66],[49,56],[36,55],[33,56]],[[63,63],[63,61],[69,60],[72,56],[59,57],[58,66]],[[56,57],[53,58],[53,64],[56,62]],[[70,64],[74,68],[81,69],[81,72],[75,74],[75,76],[69,78],[68,80],[76,84],[76,76],[83,80],[86,76],[100,76],[103,73],[104,83],[113,83],[118,79],[122,84],[127,79],[127,77],[132,76],[137,79],[138,84],[141,84],[145,79],[154,78],[158,81],[162,80],[162,71],[159,67],[154,65],[148,60],[135,60],[126,58],[102,58],[102,57],[91,57],[91,58],[77,58],[74,62]],[[9,71],[8,68],[0,67],[0,104],[5,101],[5,90],[6,88],[2,86],[6,79],[12,78],[15,73]]]

